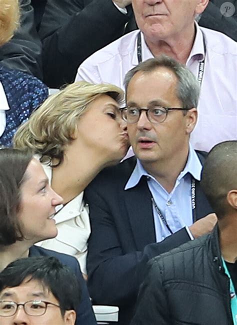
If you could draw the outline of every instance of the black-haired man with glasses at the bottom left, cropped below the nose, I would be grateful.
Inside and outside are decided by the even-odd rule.
[[[0,273],[1,325],[74,325],[78,282],[55,257],[27,257]]]

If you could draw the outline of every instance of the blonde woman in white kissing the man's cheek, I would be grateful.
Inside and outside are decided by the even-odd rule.
[[[126,154],[128,138],[112,85],[77,82],[50,96],[23,124],[14,147],[38,154],[52,189],[63,198],[55,214],[56,238],[40,245],[77,257],[83,273],[90,224],[83,190],[106,166]]]

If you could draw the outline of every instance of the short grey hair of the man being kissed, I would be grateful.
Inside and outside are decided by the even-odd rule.
[[[177,98],[182,103],[183,108],[197,108],[200,94],[199,82],[183,64],[178,63],[166,55],[148,59],[129,70],[124,78],[126,93],[129,82],[137,72],[142,72],[144,74],[151,73],[161,67],[171,70],[177,77]]]

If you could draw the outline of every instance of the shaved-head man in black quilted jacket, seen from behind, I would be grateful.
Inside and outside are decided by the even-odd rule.
[[[210,151],[201,186],[218,225],[149,261],[132,325],[237,323],[236,161],[237,141]]]

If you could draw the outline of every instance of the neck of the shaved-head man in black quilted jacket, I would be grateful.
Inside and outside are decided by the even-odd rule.
[[[218,220],[220,251],[229,263],[237,261],[237,213],[234,211]]]

